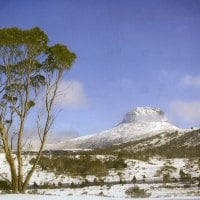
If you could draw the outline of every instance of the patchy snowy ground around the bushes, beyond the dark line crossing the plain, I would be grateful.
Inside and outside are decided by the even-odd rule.
[[[26,171],[30,170],[31,165],[29,160],[33,156],[26,156],[24,162],[24,169]],[[98,159],[106,159],[105,156],[99,155],[96,156]],[[198,166],[198,159],[160,159],[152,158],[149,161],[141,160],[126,160],[127,167],[121,170],[111,169],[109,174],[105,177],[101,177],[104,183],[117,182],[120,179],[122,181],[131,181],[135,176],[138,182],[160,182],[163,180],[163,174],[170,173],[170,178],[179,179],[179,172],[182,169],[185,173],[190,173],[191,177],[199,177],[200,170]],[[0,175],[5,178],[9,178],[9,167],[6,163],[4,154],[0,153]],[[58,184],[61,183],[82,183],[86,179],[90,182],[93,182],[94,179],[99,179],[96,176],[86,176],[85,178],[76,176],[68,176],[67,174],[56,174],[52,171],[41,170],[37,167],[35,173],[33,174],[30,184],[37,183],[42,185],[44,183]],[[1,179],[1,177],[0,177]]]

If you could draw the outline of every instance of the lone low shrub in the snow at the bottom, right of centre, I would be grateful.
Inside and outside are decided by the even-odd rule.
[[[147,193],[147,191],[140,189],[137,185],[128,188],[125,193],[133,198],[147,198],[151,196],[151,193]]]

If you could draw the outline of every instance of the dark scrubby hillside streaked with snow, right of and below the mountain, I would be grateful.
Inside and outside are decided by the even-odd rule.
[[[121,154],[122,156],[145,159],[151,156],[167,158],[200,157],[200,129],[188,132],[163,132],[136,141],[98,149],[97,152]]]

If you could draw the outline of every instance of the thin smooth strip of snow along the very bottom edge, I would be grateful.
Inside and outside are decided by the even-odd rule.
[[[46,196],[46,195],[0,195],[1,200],[128,200],[98,196]],[[135,200],[139,200],[134,198]],[[141,198],[140,198],[141,199]],[[200,197],[148,198],[148,200],[199,200]]]

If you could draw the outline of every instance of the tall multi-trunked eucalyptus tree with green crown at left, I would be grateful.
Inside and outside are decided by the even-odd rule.
[[[15,193],[24,193],[27,189],[54,122],[59,82],[76,58],[67,46],[48,43],[48,36],[38,27],[0,29],[0,144],[10,167],[11,178],[7,181]],[[44,96],[42,120],[38,114],[35,122],[40,147],[31,169],[25,171],[24,128],[41,94]]]

